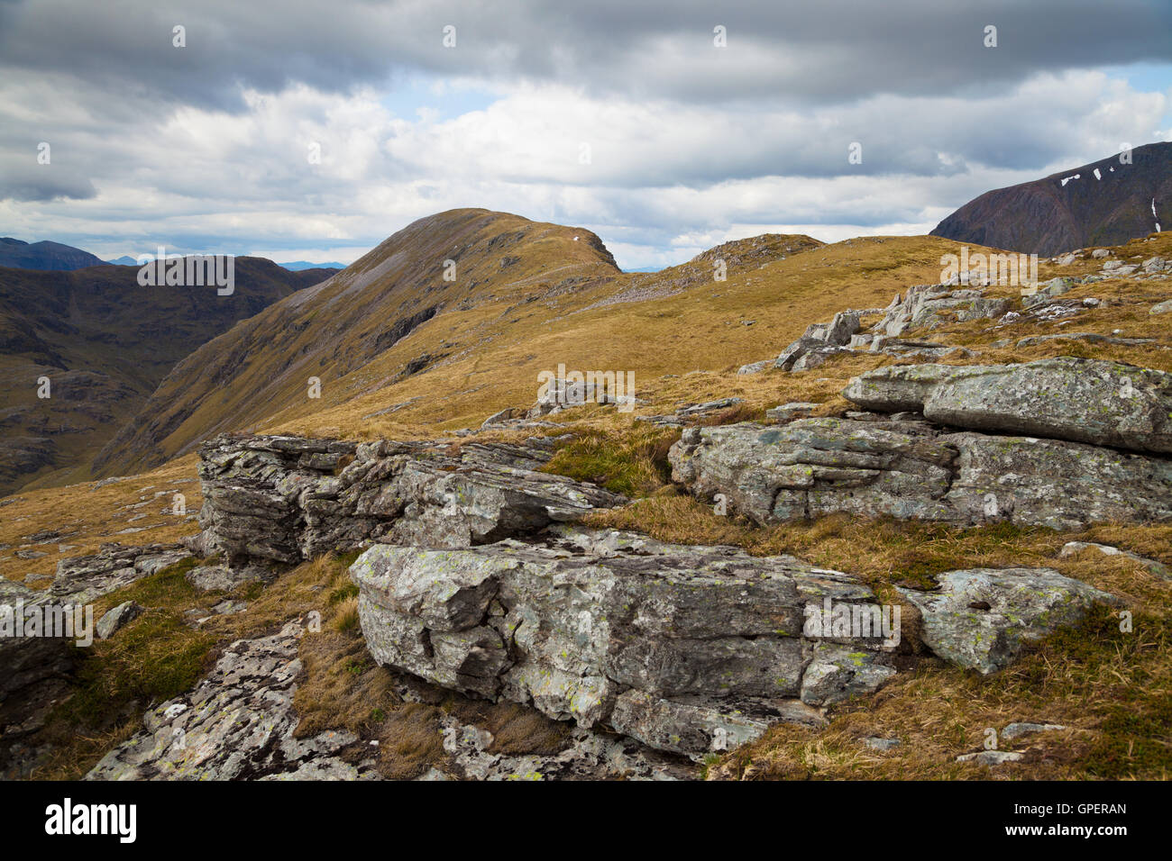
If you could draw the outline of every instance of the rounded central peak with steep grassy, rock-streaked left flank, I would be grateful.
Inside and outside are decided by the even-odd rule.
[[[445,260],[455,280],[444,280]],[[620,276],[588,231],[486,210],[421,219],[188,356],[96,469],[154,466],[288,406],[316,408],[437,364],[493,361],[510,316],[552,316],[567,296]],[[320,401],[307,396],[311,377],[321,380]]]

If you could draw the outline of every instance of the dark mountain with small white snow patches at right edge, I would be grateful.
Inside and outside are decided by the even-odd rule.
[[[987,191],[934,237],[1042,255],[1120,245],[1172,226],[1172,143],[1137,146],[1044,179]]]

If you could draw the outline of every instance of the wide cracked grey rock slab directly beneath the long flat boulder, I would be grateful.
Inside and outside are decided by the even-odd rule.
[[[902,402],[901,402],[902,403]],[[1172,462],[1033,437],[943,433],[922,421],[806,418],[690,428],[668,453],[700,499],[758,524],[834,512],[1081,528],[1172,519]]]

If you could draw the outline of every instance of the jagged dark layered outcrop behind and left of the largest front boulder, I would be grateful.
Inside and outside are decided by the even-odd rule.
[[[485,544],[571,520],[621,497],[538,470],[553,442],[346,443],[222,436],[200,449],[200,545],[230,567],[292,565],[370,540]]]

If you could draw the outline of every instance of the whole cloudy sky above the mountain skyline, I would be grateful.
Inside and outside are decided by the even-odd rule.
[[[1167,139],[1170,0],[0,0],[0,235],[103,259],[348,264],[479,206],[660,268]]]

